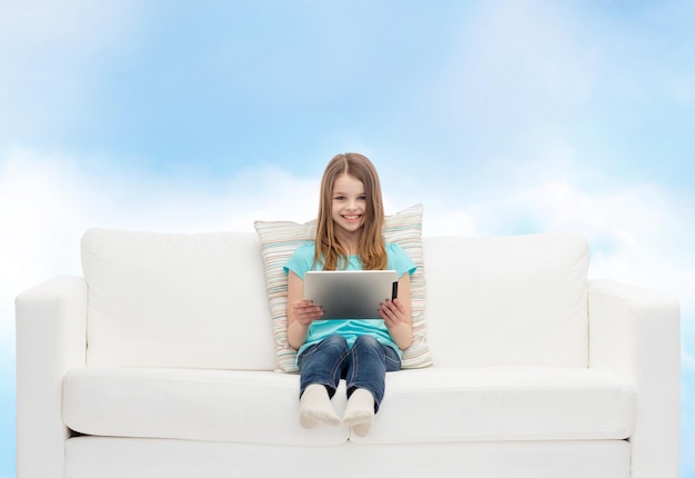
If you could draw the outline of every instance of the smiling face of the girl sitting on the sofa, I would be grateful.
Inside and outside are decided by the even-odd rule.
[[[362,181],[349,175],[339,176],[333,183],[331,199],[331,218],[335,231],[339,235],[361,231],[365,212],[366,193]]]

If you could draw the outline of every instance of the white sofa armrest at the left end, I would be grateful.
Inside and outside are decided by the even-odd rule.
[[[62,379],[84,367],[87,282],[56,277],[22,293],[17,320],[17,476],[62,477]]]

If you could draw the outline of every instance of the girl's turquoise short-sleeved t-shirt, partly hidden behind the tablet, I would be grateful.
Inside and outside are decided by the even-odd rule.
[[[395,270],[399,278],[404,273],[412,275],[415,271],[415,263],[401,246],[395,242],[389,242],[385,247],[389,260],[387,268]],[[313,267],[315,250],[314,241],[300,246],[284,265],[284,271],[290,273],[291,270],[304,280],[304,272],[308,270],[321,270],[321,265],[318,265],[315,268]],[[348,270],[362,269],[362,262],[359,256],[350,256],[348,259]],[[391,338],[391,333],[389,333],[384,321],[372,319],[314,320],[309,327],[306,341],[300,347],[298,356],[302,353],[306,347],[318,343],[324,338],[335,333],[344,337],[350,347],[352,347],[357,337],[363,335],[372,336],[381,343],[392,347],[399,353],[399,357],[401,356],[401,350]]]

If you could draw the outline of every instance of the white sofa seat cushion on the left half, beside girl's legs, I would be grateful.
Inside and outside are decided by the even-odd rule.
[[[273,371],[88,367],[63,380],[63,421],[85,435],[311,446],[346,441],[346,427],[301,428],[298,404],[299,377]]]

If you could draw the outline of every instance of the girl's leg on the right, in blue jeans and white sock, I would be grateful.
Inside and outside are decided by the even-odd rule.
[[[372,427],[374,414],[384,397],[386,371],[401,368],[401,360],[391,347],[370,336],[359,337],[350,351],[348,376],[348,407],[343,422],[352,426],[359,436]]]

